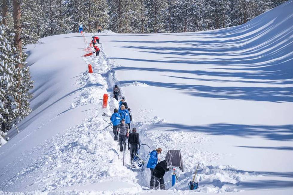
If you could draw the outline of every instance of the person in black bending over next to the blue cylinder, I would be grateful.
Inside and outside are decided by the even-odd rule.
[[[167,162],[166,160],[162,160],[161,162],[156,165],[154,169],[154,176],[155,176],[155,189],[158,189],[160,185],[160,189],[164,190],[165,189],[165,181],[164,181],[164,175],[166,171],[170,171],[171,168],[167,168]]]

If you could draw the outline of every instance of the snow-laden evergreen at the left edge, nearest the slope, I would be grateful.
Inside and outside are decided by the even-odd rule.
[[[6,33],[4,24],[0,26],[0,34],[0,122],[3,131],[31,112],[28,100],[32,97],[29,90],[33,82],[24,63],[26,54],[19,55],[12,47],[15,34]]]

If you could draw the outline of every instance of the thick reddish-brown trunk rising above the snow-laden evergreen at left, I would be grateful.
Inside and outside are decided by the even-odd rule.
[[[19,51],[19,57],[22,57],[22,42],[21,42],[21,7],[20,0],[13,0],[13,23],[15,31],[14,46]]]

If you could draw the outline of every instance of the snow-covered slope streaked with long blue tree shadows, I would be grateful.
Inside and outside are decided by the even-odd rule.
[[[0,148],[0,194],[292,194],[293,1],[237,27],[173,34],[100,34],[100,56],[79,33],[29,45],[33,113]],[[89,42],[92,34],[86,34]],[[94,74],[87,73],[88,63]],[[179,149],[185,170],[167,191],[122,166],[103,130],[117,101],[152,149]],[[142,155],[146,150],[142,151]],[[199,190],[187,191],[199,163]],[[126,154],[129,164],[129,154]]]

